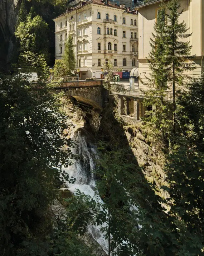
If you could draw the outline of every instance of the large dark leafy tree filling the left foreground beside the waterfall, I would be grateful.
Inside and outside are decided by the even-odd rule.
[[[69,179],[62,166],[72,143],[61,136],[66,117],[46,83],[31,84],[24,74],[0,81],[0,251],[13,256]]]

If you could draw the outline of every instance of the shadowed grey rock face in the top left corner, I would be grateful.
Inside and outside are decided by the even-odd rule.
[[[0,0],[0,70],[10,69],[17,14],[21,0]]]

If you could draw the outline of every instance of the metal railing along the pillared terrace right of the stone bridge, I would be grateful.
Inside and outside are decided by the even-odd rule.
[[[124,94],[124,95],[130,95],[135,96],[137,98],[150,98],[152,96],[154,97],[160,97],[158,94],[158,91],[150,90],[150,89],[126,89],[123,85],[112,85],[111,86],[111,92],[113,94]],[[178,99],[179,95],[176,95],[176,99]],[[173,92],[165,91],[163,94],[164,101],[173,102]]]

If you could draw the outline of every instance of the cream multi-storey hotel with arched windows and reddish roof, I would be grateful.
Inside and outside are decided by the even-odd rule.
[[[131,71],[138,67],[138,15],[100,0],[83,1],[54,19],[55,58],[64,52],[64,42],[73,38],[81,79],[101,78],[101,68],[108,60],[113,71]]]

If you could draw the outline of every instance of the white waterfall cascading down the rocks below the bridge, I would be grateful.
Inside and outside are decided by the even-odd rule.
[[[73,194],[79,189],[85,195],[89,195],[94,200],[102,203],[97,191],[94,191],[96,182],[94,180],[93,170],[96,168],[94,159],[97,158],[96,146],[90,142],[87,136],[87,131],[83,128],[75,129],[72,131],[71,138],[76,141],[76,145],[72,148],[72,153],[76,154],[77,159],[73,160],[72,166],[64,168],[64,170],[69,174],[69,177],[74,177],[76,182],[70,184],[67,182],[67,188]],[[93,239],[101,246],[106,254],[108,253],[108,241],[103,237],[101,232],[101,225],[88,225],[87,231]]]

